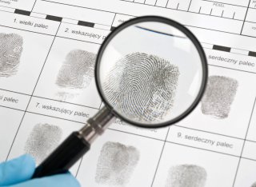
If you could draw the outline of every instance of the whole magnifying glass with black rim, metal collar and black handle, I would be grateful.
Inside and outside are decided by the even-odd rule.
[[[34,177],[65,173],[116,117],[146,128],[182,120],[198,105],[207,74],[202,46],[178,22],[146,16],[123,23],[102,43],[96,61],[105,106],[42,161]]]

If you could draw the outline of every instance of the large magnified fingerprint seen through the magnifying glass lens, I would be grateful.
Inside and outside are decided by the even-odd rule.
[[[103,84],[106,99],[135,121],[161,121],[174,105],[179,70],[154,55],[127,54]]]

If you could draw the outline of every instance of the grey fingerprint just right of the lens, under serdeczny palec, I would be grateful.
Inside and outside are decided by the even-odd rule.
[[[238,81],[234,78],[210,76],[202,97],[202,113],[221,119],[228,117],[237,90]]]

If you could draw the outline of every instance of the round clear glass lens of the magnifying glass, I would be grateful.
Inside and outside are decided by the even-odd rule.
[[[138,22],[117,32],[102,50],[98,88],[118,117],[154,126],[181,117],[198,100],[202,65],[198,46],[178,26]]]

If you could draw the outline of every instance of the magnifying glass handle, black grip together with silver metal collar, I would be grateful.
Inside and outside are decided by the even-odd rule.
[[[114,121],[110,109],[102,108],[87,124],[77,132],[71,133],[42,164],[35,169],[32,178],[66,173],[89,149],[98,135]]]

